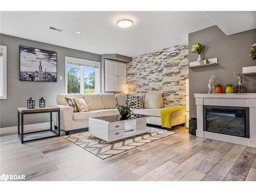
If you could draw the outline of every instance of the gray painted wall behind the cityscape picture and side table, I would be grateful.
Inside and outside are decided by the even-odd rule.
[[[47,105],[56,104],[56,95],[65,93],[65,56],[100,62],[100,55],[74,49],[45,44],[38,41],[0,34],[0,45],[7,46],[7,99],[0,100],[0,127],[17,125],[17,108],[26,106],[33,97],[38,105],[41,96]],[[57,82],[19,81],[19,46],[29,46],[57,52]],[[62,80],[59,76],[62,75]],[[48,122],[48,114],[25,116],[25,124]]]

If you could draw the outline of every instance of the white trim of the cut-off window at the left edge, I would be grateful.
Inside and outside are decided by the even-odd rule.
[[[3,96],[0,99],[7,99],[7,47],[0,45],[0,49],[3,49]]]

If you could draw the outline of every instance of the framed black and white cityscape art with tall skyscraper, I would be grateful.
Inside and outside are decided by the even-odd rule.
[[[57,82],[57,53],[19,46],[19,80]]]

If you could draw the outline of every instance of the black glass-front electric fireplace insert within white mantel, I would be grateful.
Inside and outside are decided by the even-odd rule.
[[[249,108],[204,105],[204,131],[249,138]]]

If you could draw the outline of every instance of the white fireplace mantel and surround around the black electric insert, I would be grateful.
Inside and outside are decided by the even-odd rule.
[[[198,137],[216,139],[256,147],[256,93],[244,94],[194,94],[197,105]],[[250,138],[203,131],[203,105],[243,106],[249,108]]]

